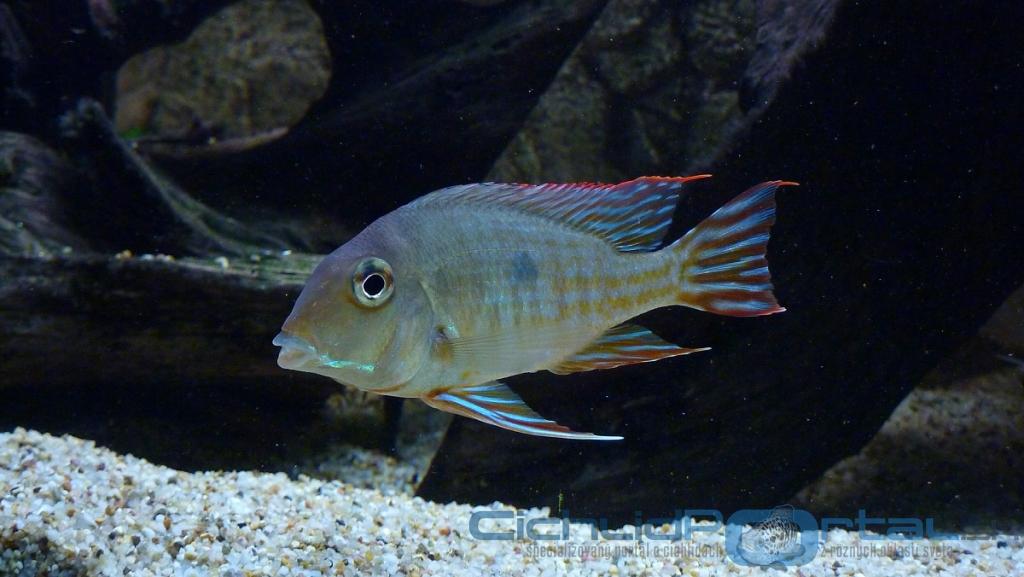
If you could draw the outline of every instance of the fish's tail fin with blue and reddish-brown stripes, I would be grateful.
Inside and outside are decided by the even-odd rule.
[[[681,260],[679,303],[730,317],[781,313],[772,294],[765,249],[775,223],[775,190],[796,182],[762,182],[676,241]]]

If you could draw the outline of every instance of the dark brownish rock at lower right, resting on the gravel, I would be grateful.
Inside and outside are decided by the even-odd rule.
[[[986,329],[1007,321],[1024,326],[1024,316],[1010,312],[1000,307]],[[972,339],[929,372],[863,450],[788,502],[819,517],[904,511],[933,519],[941,531],[1020,533],[1022,380],[1020,368]]]

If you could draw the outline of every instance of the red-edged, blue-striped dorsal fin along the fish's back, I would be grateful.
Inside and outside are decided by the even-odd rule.
[[[695,176],[641,176],[618,184],[506,184],[450,187],[409,205],[503,205],[600,237],[622,252],[652,251],[672,222],[684,182]]]

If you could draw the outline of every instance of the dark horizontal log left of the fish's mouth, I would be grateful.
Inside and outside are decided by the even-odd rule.
[[[0,258],[0,382],[293,380],[270,340],[318,258]]]

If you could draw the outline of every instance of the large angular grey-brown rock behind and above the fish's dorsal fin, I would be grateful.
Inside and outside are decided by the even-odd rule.
[[[835,5],[613,0],[487,178],[618,181],[703,170],[760,117]],[[776,29],[792,33],[786,42]],[[760,96],[744,108],[740,88],[769,66],[771,89],[759,79]]]

